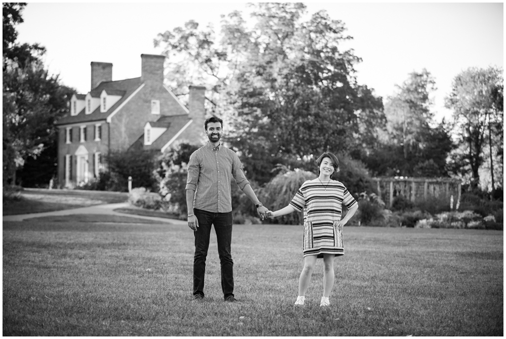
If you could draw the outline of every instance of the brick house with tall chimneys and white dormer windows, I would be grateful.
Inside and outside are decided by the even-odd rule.
[[[75,94],[57,122],[58,183],[74,187],[97,178],[109,150],[163,152],[175,142],[204,140],[204,92],[190,86],[186,108],[163,84],[160,55],[141,55],[141,76],[112,80],[112,64],[91,63],[91,90]]]

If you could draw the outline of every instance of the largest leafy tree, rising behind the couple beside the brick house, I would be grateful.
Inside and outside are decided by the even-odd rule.
[[[199,31],[195,22],[156,40],[212,84],[215,112],[231,122],[226,140],[240,153],[248,179],[263,184],[277,163],[369,146],[371,138],[357,136],[374,136],[384,123],[383,104],[356,81],[361,59],[341,47],[351,39],[344,24],[324,11],[301,22],[301,3],[250,6],[255,26],[232,12],[222,17],[219,42],[212,28]]]

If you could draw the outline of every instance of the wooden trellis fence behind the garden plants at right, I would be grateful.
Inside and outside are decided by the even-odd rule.
[[[373,178],[377,185],[378,195],[386,206],[392,206],[394,198],[402,195],[412,202],[426,200],[430,197],[453,195],[455,201],[460,198],[458,179],[447,178]]]

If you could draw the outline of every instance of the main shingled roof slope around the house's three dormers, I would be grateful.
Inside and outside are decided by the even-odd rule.
[[[107,110],[107,112],[100,112],[100,107],[97,107],[92,113],[85,114],[85,109],[83,108],[77,115],[71,116],[70,113],[67,113],[63,118],[61,118],[56,124],[64,125],[70,123],[79,123],[79,122],[89,122],[89,121],[97,121],[97,120],[105,120],[109,114],[114,112],[114,110],[119,107],[126,99],[130,97],[132,93],[135,92],[141,86],[141,78],[132,78],[132,79],[124,79],[117,81],[103,81],[94,88],[90,94],[92,97],[99,98],[100,94],[103,90],[108,91],[122,91],[124,92],[121,99],[119,99],[111,108]]]

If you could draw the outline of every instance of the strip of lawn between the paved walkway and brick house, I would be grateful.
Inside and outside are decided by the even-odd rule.
[[[128,193],[123,192],[24,189],[20,192],[19,200],[3,201],[2,214],[49,212],[127,200]]]

